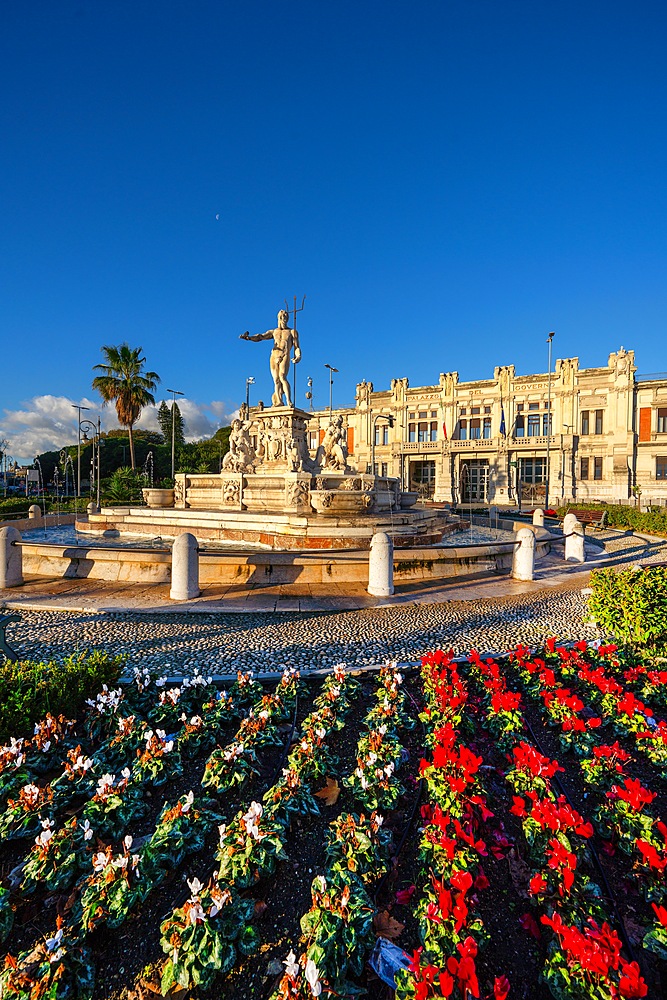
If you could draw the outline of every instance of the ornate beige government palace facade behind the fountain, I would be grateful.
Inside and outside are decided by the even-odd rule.
[[[639,375],[620,348],[599,368],[559,358],[549,374],[461,382],[457,372],[413,388],[357,386],[347,426],[349,465],[395,476],[406,490],[453,503],[516,507],[601,500],[667,505],[667,373]],[[329,410],[313,413],[316,450]]]

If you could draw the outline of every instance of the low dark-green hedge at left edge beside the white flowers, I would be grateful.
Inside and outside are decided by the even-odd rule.
[[[79,653],[63,663],[6,660],[0,665],[0,741],[32,735],[47,712],[74,719],[103,684],[115,684],[125,656]]]

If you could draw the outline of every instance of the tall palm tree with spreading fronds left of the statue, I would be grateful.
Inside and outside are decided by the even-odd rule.
[[[134,462],[134,438],[132,428],[139,419],[145,406],[155,404],[152,391],[160,381],[157,372],[143,370],[146,359],[141,354],[142,348],[132,348],[129,344],[119,347],[112,345],[102,348],[106,364],[95,365],[93,371],[101,371],[93,379],[93,389],[97,389],[105,403],[116,404],[118,423],[127,427],[130,438],[130,461]]]

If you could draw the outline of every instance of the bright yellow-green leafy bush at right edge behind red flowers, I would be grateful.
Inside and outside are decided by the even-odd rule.
[[[621,646],[648,653],[667,649],[667,569],[594,570],[588,606],[600,628]]]

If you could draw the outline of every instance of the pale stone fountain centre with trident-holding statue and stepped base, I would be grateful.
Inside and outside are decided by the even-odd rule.
[[[238,541],[271,549],[353,549],[386,531],[397,546],[430,545],[458,525],[442,510],[416,508],[416,494],[398,479],[361,471],[348,453],[347,428],[334,414],[318,447],[308,447],[310,414],[292,403],[290,355],[301,359],[298,333],[281,310],[278,326],[243,340],[272,340],[272,405],[241,406],[233,421],[229,452],[216,474],[179,473],[165,504],[105,508],[79,530]],[[153,456],[143,474],[152,485]],[[167,491],[163,491],[167,492]],[[150,501],[149,501],[150,502]]]

